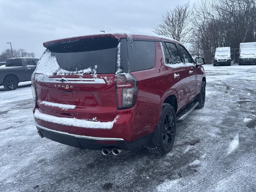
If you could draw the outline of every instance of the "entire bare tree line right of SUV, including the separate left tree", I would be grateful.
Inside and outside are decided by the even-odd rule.
[[[189,44],[193,55],[212,61],[216,47],[239,48],[256,41],[256,0],[198,0],[168,10],[154,28],[158,35]]]

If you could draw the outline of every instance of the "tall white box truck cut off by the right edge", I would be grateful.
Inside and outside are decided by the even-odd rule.
[[[256,64],[256,42],[240,43],[238,64],[252,65]]]

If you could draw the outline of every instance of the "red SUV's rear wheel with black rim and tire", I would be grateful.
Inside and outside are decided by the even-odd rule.
[[[160,135],[156,148],[148,148],[151,153],[165,155],[172,149],[176,134],[176,115],[172,105],[164,103],[158,125]]]

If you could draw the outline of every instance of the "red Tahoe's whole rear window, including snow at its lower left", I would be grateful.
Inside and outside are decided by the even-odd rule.
[[[35,73],[48,77],[115,73],[118,43],[116,38],[98,37],[51,44],[38,61]]]

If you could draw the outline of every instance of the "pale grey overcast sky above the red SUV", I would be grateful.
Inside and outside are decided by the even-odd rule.
[[[153,33],[167,9],[187,0],[0,0],[0,52],[23,48],[40,58],[43,42],[106,32]],[[190,0],[192,5],[194,1]]]

